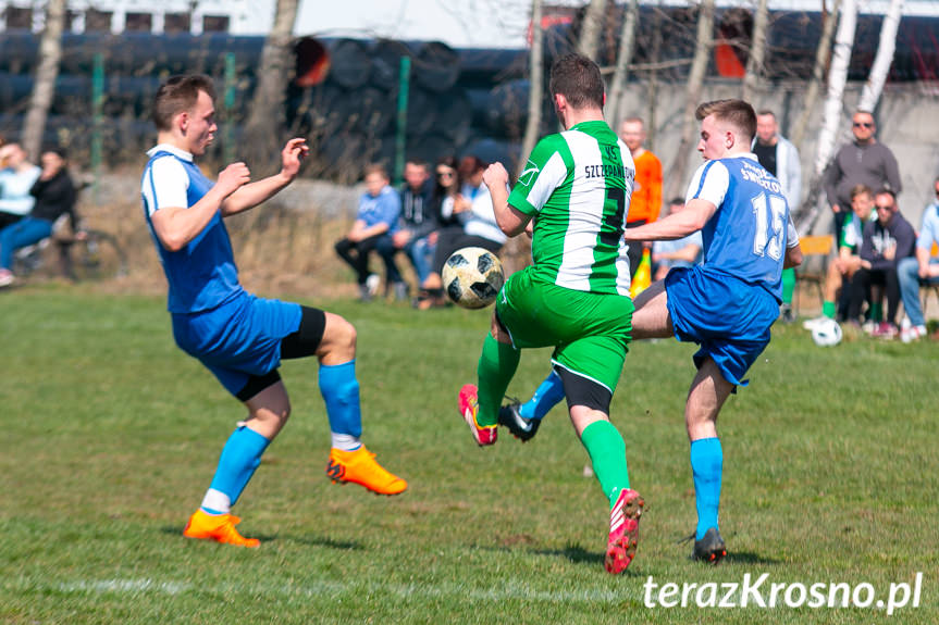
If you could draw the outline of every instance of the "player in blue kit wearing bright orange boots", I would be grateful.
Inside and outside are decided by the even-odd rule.
[[[158,145],[147,152],[140,190],[147,224],[169,283],[173,336],[247,408],[230,436],[214,478],[183,534],[242,547],[231,509],[261,462],[261,454],[291,413],[277,373],[281,359],[316,355],[326,404],[332,449],[326,475],[382,495],[407,483],[385,471],[361,443],[359,384],[355,372],[356,329],[343,317],[300,304],[257,298],[238,284],[223,217],[268,200],[296,177],[306,141],[287,141],[281,171],[250,182],[245,163],[233,163],[212,183],[194,157],[211,143],[214,89],[201,75],[174,76],[157,91],[153,122]]]

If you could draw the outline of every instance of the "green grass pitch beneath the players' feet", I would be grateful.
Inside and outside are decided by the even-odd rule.
[[[259,550],[181,530],[240,407],[173,345],[158,298],[61,286],[0,293],[0,622],[939,622],[937,345],[818,349],[777,326],[721,415],[717,567],[677,545],[694,526],[682,405],[692,346],[633,346],[614,400],[639,554],[603,571],[607,504],[564,411],[539,436],[472,443],[456,392],[486,313],[305,301],[359,330],[365,439],[410,482],[397,498],[325,478],[313,362],[286,363],[292,421],[236,511]],[[547,368],[527,352],[509,389]],[[923,572],[918,608],[647,608],[643,584],[870,584]],[[781,602],[781,600],[780,600]],[[911,600],[912,603],[912,600]]]

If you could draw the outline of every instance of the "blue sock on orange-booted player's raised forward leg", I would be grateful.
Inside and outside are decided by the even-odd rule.
[[[320,365],[320,395],[326,402],[332,445],[345,451],[362,446],[362,411],[359,405],[359,382],[356,379],[356,361],[335,365]]]

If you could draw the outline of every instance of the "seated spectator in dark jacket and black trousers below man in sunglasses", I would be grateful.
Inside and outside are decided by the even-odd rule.
[[[910,222],[897,210],[897,198],[890,189],[874,196],[877,221],[864,226],[861,241],[861,267],[851,279],[851,303],[848,317],[857,323],[861,304],[869,298],[872,285],[881,285],[887,291],[887,317],[874,330],[874,336],[892,339],[898,335],[897,310],[900,305],[898,261],[912,257],[916,234]],[[872,300],[873,301],[873,300]]]

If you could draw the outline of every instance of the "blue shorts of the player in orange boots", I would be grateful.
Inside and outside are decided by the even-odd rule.
[[[173,336],[180,348],[238,396],[251,376],[281,364],[281,340],[300,327],[300,304],[244,293],[198,313],[174,313]]]

